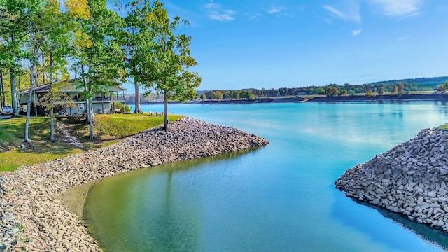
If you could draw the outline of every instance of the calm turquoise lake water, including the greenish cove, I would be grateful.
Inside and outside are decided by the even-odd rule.
[[[162,112],[162,105],[144,111]],[[106,251],[443,251],[448,236],[358,204],[333,182],[421,129],[442,102],[172,104],[169,113],[265,137],[251,151],[160,165],[92,187]]]

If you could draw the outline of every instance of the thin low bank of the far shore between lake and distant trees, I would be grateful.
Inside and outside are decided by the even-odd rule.
[[[303,97],[287,97],[287,98],[255,98],[248,99],[228,99],[228,100],[205,100],[205,101],[189,101],[182,104],[258,104],[258,103],[286,103],[286,102],[383,102],[383,101],[435,101],[448,102],[447,94],[403,94],[398,95],[377,95],[374,97],[350,95],[335,97],[311,97],[304,99]],[[141,102],[144,104],[163,104],[163,102]],[[181,104],[181,102],[169,102],[169,104]],[[135,104],[130,104],[135,105]]]

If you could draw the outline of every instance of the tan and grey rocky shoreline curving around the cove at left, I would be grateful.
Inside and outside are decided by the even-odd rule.
[[[85,224],[62,204],[62,194],[80,186],[167,162],[265,146],[268,141],[232,127],[181,118],[118,144],[0,176],[0,251],[100,251]]]

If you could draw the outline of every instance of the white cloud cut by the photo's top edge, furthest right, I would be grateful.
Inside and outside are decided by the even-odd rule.
[[[409,17],[419,15],[422,0],[370,0],[381,6],[384,15],[390,17]]]

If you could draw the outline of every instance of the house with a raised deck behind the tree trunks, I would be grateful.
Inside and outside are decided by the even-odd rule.
[[[83,96],[84,88],[73,85],[72,80],[64,83],[57,83],[58,93],[61,100],[55,102],[54,112],[66,115],[78,115],[86,113],[86,102]],[[116,113],[121,112],[118,104],[125,105],[126,89],[119,86],[104,87],[102,92],[94,94],[92,97],[94,113]],[[34,88],[31,94],[31,114],[45,115],[47,112],[43,106],[39,105],[40,99],[45,99],[45,94],[50,92],[49,85],[41,85]],[[19,92],[20,112],[25,113],[29,90]],[[37,101],[37,102],[35,102]]]

